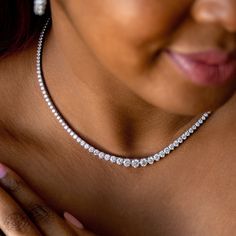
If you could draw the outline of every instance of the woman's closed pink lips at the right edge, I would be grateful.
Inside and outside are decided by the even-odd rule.
[[[187,75],[186,78],[198,85],[214,86],[236,79],[236,51],[185,54],[168,50],[167,54]]]

